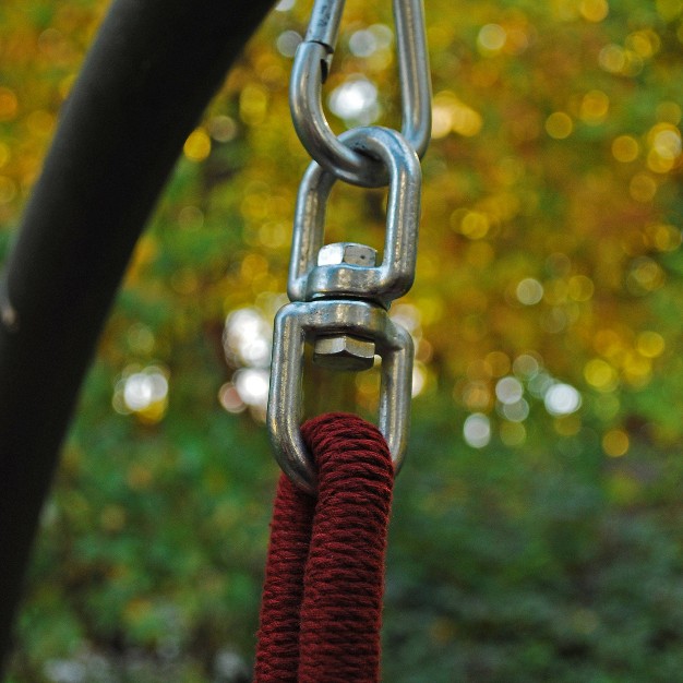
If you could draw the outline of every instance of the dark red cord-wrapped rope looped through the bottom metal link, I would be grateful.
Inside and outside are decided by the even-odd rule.
[[[394,468],[384,438],[355,415],[301,433],[317,499],[285,475],[275,498],[255,683],[376,683]]]

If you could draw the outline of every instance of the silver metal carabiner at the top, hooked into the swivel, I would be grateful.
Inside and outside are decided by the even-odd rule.
[[[432,127],[431,81],[422,0],[394,0],[398,79],[402,84],[402,133],[422,157]],[[332,62],[344,0],[317,0],[309,29],[295,56],[289,85],[293,125],[308,153],[337,178],[351,184],[386,184],[380,164],[337,137],[325,118],[322,84]]]

